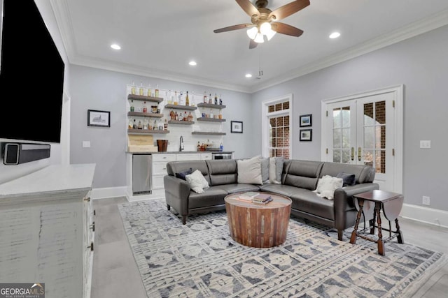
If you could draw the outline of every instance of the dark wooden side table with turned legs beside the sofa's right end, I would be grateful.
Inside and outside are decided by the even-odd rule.
[[[400,225],[398,225],[398,215],[400,214],[402,204],[403,204],[403,196],[400,193],[391,193],[388,191],[367,191],[366,193],[359,193],[358,195],[353,195],[353,198],[358,200],[359,209],[358,215],[356,216],[356,223],[353,232],[351,232],[350,243],[356,243],[356,237],[361,237],[363,239],[377,242],[378,244],[378,253],[380,255],[385,255],[384,251],[384,242],[397,237],[398,243],[403,244],[403,235],[400,230]],[[371,237],[365,236],[365,230],[363,229],[358,231],[359,220],[361,214],[363,213],[363,206],[365,201],[374,202],[374,211],[373,211],[373,221],[372,226],[370,227],[370,234],[374,234],[375,228],[378,228],[378,239],[373,239]],[[381,209],[383,209],[383,214],[386,216],[389,222],[389,228],[381,227]],[[377,220],[377,226],[375,225],[375,219]],[[391,228],[391,221],[395,221],[396,230],[393,231]],[[389,237],[383,239],[382,230],[386,230],[389,232]],[[393,235],[392,235],[393,233]]]

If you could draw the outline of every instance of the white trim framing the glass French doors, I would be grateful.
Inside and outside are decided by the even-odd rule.
[[[395,135],[395,158],[394,158],[394,166],[395,166],[395,179],[393,189],[398,193],[402,193],[403,187],[403,84],[395,85],[391,87],[376,89],[372,91],[365,91],[358,94],[352,94],[349,96],[341,96],[337,98],[330,98],[322,100],[321,103],[321,161],[325,161],[326,152],[325,148],[327,148],[327,135],[325,130],[325,119],[326,119],[326,111],[327,105],[330,103],[337,103],[344,100],[352,100],[365,96],[374,96],[378,94],[384,93],[393,93],[395,100],[395,126],[393,127],[393,133]]]

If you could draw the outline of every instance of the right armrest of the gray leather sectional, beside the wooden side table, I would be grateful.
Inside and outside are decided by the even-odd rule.
[[[344,230],[353,225],[354,223],[351,223],[351,220],[346,216],[346,211],[356,211],[355,204],[353,203],[353,195],[373,191],[374,189],[379,189],[379,185],[376,183],[363,183],[338,188],[335,191],[334,198],[335,228]]]

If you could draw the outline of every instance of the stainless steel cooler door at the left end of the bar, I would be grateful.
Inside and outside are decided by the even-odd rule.
[[[132,193],[151,193],[151,154],[132,154]]]

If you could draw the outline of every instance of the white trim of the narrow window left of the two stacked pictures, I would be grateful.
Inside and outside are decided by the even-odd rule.
[[[261,142],[262,142],[262,151],[261,154],[264,157],[269,157],[269,121],[267,107],[269,105],[274,105],[276,103],[283,103],[284,101],[289,102],[289,158],[293,158],[293,94],[286,94],[283,96],[279,96],[277,98],[271,98],[268,100],[264,100],[261,103]],[[275,116],[276,114],[286,114],[283,111],[279,112],[270,112],[269,116]]]

